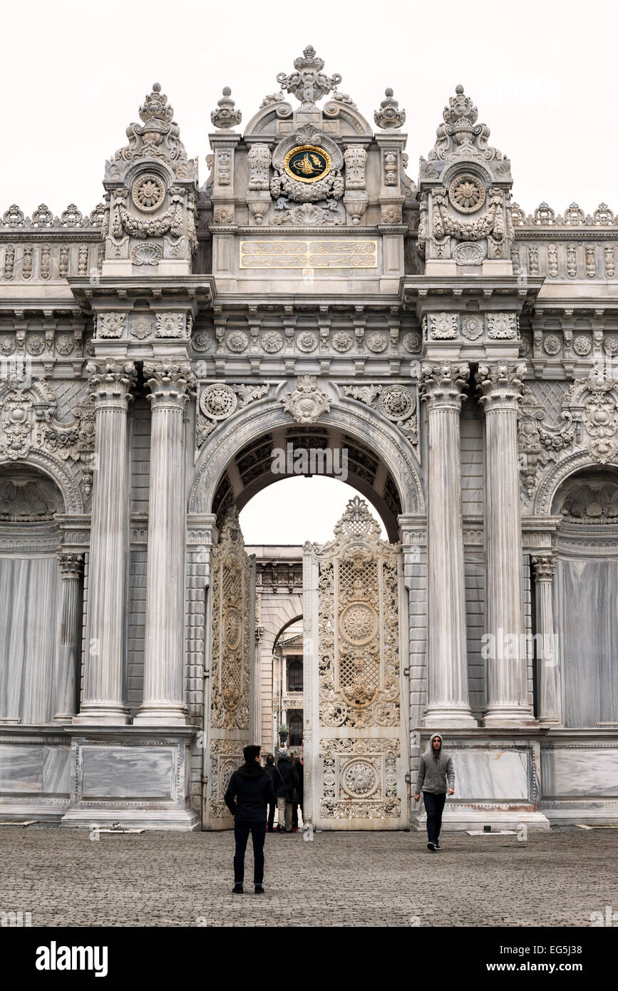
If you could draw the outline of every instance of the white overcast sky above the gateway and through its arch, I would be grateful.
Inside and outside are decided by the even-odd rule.
[[[307,45],[328,74],[341,73],[340,91],[371,122],[393,87],[415,180],[461,82],[490,144],[511,159],[514,198],[526,212],[542,200],[557,213],[572,200],[585,212],[601,200],[618,210],[617,17],[601,0],[4,0],[0,24],[0,213],[15,202],[27,214],[42,202],[55,214],[69,202],[89,212],[101,199],[105,159],[126,143],[154,81],[204,182],[222,87],[232,87],[242,130],[278,89],[276,73],[290,72]],[[316,478],[271,486],[243,513],[246,539],[329,539],[351,495]]]

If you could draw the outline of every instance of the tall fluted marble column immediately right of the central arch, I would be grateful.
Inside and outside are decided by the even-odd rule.
[[[428,418],[427,706],[422,725],[475,726],[467,691],[460,413],[465,364],[423,365]]]

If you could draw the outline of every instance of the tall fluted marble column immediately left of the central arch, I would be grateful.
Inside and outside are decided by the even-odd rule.
[[[144,701],[134,722],[184,725],[183,411],[194,377],[188,362],[144,364],[153,411],[146,592]]]

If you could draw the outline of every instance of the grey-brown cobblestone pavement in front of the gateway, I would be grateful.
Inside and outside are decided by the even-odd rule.
[[[266,893],[232,895],[231,832],[0,826],[0,911],[33,926],[589,926],[618,909],[618,829],[266,836]],[[248,850],[246,881],[253,880]]]

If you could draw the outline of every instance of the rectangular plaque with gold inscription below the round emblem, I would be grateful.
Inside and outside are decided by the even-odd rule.
[[[241,269],[377,269],[377,241],[241,241]]]

